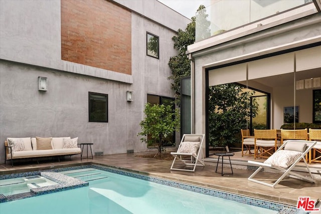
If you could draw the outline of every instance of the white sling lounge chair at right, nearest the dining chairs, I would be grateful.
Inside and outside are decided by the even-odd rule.
[[[301,178],[302,180],[315,183],[305,160],[305,154],[309,152],[309,150],[315,144],[316,141],[287,140],[263,163],[249,160],[248,163],[257,165],[259,168],[248,178],[248,180],[274,188],[285,176],[294,175],[293,177],[295,178]],[[310,177],[305,177],[301,174],[291,171],[301,159],[303,160]],[[283,174],[281,174],[281,176],[274,183],[267,183],[254,179],[253,177],[263,168],[280,170],[283,172]]]

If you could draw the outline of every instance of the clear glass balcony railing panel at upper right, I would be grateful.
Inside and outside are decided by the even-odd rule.
[[[311,3],[312,0],[216,0],[213,2],[214,4],[196,14],[196,42]],[[284,16],[281,15],[279,19],[284,19]]]

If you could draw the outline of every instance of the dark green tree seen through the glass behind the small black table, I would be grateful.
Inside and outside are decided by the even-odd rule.
[[[212,146],[239,142],[236,134],[257,114],[257,102],[250,103],[254,92],[243,89],[233,83],[210,87],[209,141]]]

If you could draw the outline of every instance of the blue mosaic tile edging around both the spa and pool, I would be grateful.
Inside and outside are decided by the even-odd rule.
[[[58,173],[61,171],[66,171],[66,170],[73,170],[73,169],[81,169],[81,168],[95,168],[95,169],[100,169],[104,171],[109,171],[112,173],[116,174],[121,174],[125,176],[130,176],[130,177],[135,177],[138,179],[142,180],[147,180],[159,184],[164,184],[172,187],[177,187],[181,189],[186,189],[189,191],[194,191],[202,194],[207,194],[211,196],[216,196],[224,199],[229,199],[233,201],[237,201],[240,203],[245,203],[249,205],[254,205],[262,208],[268,208],[271,210],[278,211],[278,213],[282,214],[295,214],[298,213],[300,210],[296,209],[295,206],[286,204],[286,203],[280,203],[277,201],[273,200],[267,200],[265,198],[255,198],[252,196],[248,196],[245,194],[240,194],[240,193],[234,193],[231,191],[225,191],[222,189],[215,188],[216,185],[206,185],[201,182],[191,182],[187,179],[177,179],[173,180],[173,177],[170,176],[159,176],[157,174],[153,173],[148,173],[148,172],[142,172],[142,171],[137,171],[137,170],[131,170],[131,169],[126,169],[126,168],[121,168],[121,167],[115,167],[115,166],[109,166],[105,164],[100,164],[100,163],[86,163],[86,164],[71,164],[69,166],[63,165],[63,166],[55,166],[55,167],[42,167],[42,169],[39,169],[38,171],[28,171],[24,170],[25,172],[19,172],[19,173],[11,173],[11,174],[3,174],[0,175],[0,180],[1,179],[8,179],[8,178],[15,178],[15,177],[25,177],[25,176],[32,176],[32,175],[38,175],[41,174],[44,177],[48,177],[50,179],[53,179],[55,182],[59,183],[57,185],[52,185],[49,187],[41,187],[41,188],[35,188],[32,189],[31,192],[27,193],[19,193],[15,195],[10,195],[8,197],[3,197],[4,195],[0,194],[0,202],[6,202],[10,200],[17,200],[17,199],[22,199],[26,197],[33,197],[41,194],[48,194],[48,193],[53,193],[57,191],[64,191],[68,189],[73,189],[73,188],[79,188],[83,186],[88,186],[88,182],[81,181],[77,178],[69,179],[72,177],[69,177],[67,175]],[[30,170],[33,170],[31,168]],[[17,170],[19,171],[19,170]],[[58,175],[56,174],[58,173]],[[65,177],[69,177],[68,179]],[[66,182],[68,180],[68,182]],[[57,188],[55,188],[57,187]],[[242,191],[244,193],[244,191]],[[12,197],[11,197],[12,196]],[[300,212],[302,213],[302,212]]]

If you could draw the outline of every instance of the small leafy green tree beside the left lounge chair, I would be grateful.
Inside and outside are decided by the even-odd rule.
[[[179,130],[179,109],[173,110],[172,105],[152,105],[147,103],[144,113],[145,118],[139,123],[141,132],[138,135],[143,136],[140,140],[147,143],[148,146],[156,142],[158,152],[155,156],[161,155],[164,150],[165,138],[174,131]]]

